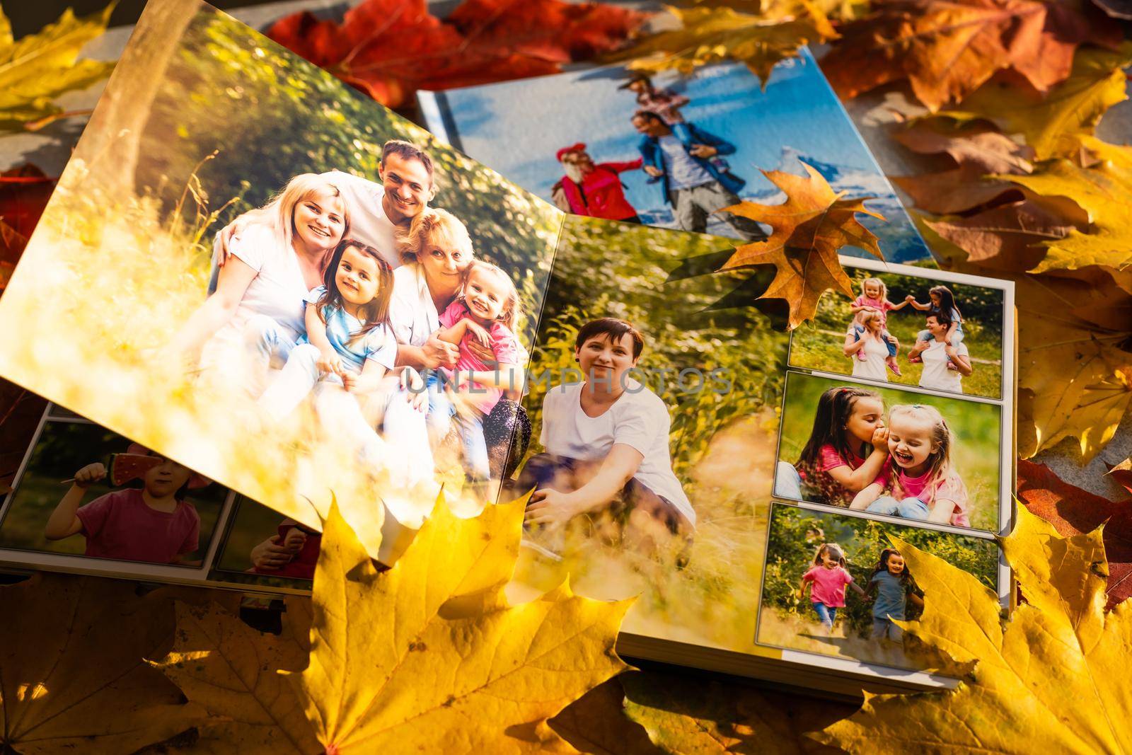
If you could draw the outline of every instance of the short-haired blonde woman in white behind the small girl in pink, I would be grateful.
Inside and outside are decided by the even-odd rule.
[[[439,314],[460,294],[463,273],[474,254],[468,229],[452,213],[430,207],[413,218],[402,246],[403,261],[393,271],[389,321],[397,338],[397,363],[417,369],[454,367],[460,355],[456,344],[436,336]],[[473,346],[474,348],[474,346]],[[494,354],[484,348],[484,360]],[[525,363],[526,354],[521,354]],[[430,429],[434,439],[447,432],[448,412],[443,395],[429,395]],[[526,412],[514,396],[501,398],[483,422],[491,462],[491,475],[507,477],[504,465],[520,458],[531,437]],[[512,444],[515,453],[509,453]]]

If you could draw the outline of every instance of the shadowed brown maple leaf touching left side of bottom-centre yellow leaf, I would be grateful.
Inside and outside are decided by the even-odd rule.
[[[178,601],[173,649],[154,663],[214,722],[201,748],[232,753],[323,750],[281,670],[297,671],[307,652],[290,634],[256,632],[218,604]]]

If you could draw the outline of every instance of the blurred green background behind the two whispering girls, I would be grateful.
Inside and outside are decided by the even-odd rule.
[[[851,384],[815,375],[790,374],[782,411],[780,460],[790,464],[798,461],[798,454],[814,427],[818,397],[838,385]],[[895,404],[928,404],[940,410],[955,436],[951,461],[967,486],[971,526],[996,531],[1002,410],[994,404],[909,393],[899,388],[876,391],[884,400],[885,409]]]

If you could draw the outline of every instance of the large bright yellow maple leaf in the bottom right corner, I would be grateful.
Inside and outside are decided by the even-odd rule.
[[[1061,538],[1026,508],[1003,547],[1027,602],[1005,627],[997,597],[967,572],[907,543],[924,590],[908,630],[974,670],[950,692],[866,695],[817,735],[850,753],[1126,753],[1132,604],[1105,614],[1101,532]],[[907,550],[906,550],[907,549]]]

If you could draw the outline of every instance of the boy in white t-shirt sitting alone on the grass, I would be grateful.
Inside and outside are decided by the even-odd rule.
[[[574,357],[585,381],[547,392],[539,436],[546,453],[518,478],[520,489],[534,488],[528,524],[561,526],[608,511],[635,535],[659,524],[691,537],[696,515],[672,473],[668,407],[627,375],[643,348],[641,333],[612,317],[578,331]]]

